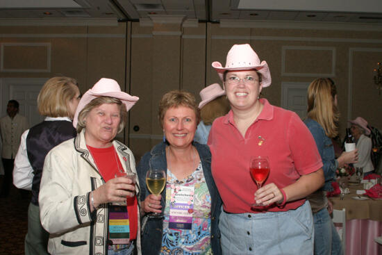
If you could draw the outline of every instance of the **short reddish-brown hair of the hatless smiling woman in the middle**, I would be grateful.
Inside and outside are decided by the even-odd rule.
[[[163,95],[159,102],[159,113],[158,118],[160,126],[163,128],[163,119],[169,108],[176,108],[178,106],[185,106],[194,110],[195,116],[197,117],[197,124],[200,122],[200,110],[197,105],[195,97],[190,92],[185,92],[182,90],[172,90]]]

